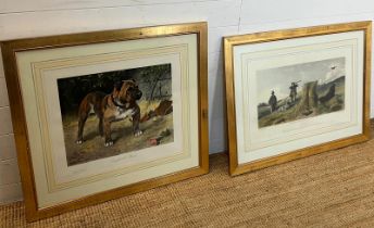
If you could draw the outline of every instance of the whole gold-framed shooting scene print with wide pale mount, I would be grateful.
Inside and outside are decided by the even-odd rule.
[[[371,22],[224,39],[229,173],[370,138]]]

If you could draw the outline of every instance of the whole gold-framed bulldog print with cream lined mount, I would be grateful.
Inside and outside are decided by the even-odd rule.
[[[208,173],[207,23],[1,50],[27,220]]]

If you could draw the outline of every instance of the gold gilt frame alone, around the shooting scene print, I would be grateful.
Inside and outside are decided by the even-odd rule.
[[[238,162],[237,147],[237,125],[236,119],[236,97],[235,80],[237,75],[234,72],[234,48],[246,46],[266,43],[278,40],[292,40],[295,38],[316,37],[321,35],[332,35],[347,31],[362,30],[363,35],[363,115],[362,115],[362,132],[348,138],[340,138],[334,141],[306,147],[291,152],[279,152],[272,155],[246,163]],[[229,150],[229,174],[232,176],[240,175],[247,172],[257,170],[276,164],[282,164],[292,160],[322,153],[347,147],[353,143],[363,142],[370,139],[370,86],[371,86],[371,46],[372,46],[372,23],[354,22],[346,24],[333,24],[325,26],[304,27],[297,29],[284,29],[266,33],[257,33],[250,35],[230,36],[224,38],[224,60],[225,60],[225,78],[226,78],[226,100],[227,100],[227,129],[228,129],[228,150]],[[241,52],[240,52],[241,53]],[[250,66],[248,66],[250,67]],[[250,99],[250,98],[249,98]]]

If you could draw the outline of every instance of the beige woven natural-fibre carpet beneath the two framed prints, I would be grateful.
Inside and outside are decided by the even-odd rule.
[[[24,226],[23,203],[0,207],[0,227]],[[28,226],[374,227],[374,139],[235,178],[213,155],[209,175]]]

